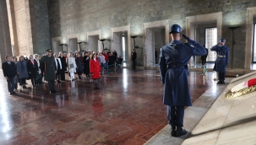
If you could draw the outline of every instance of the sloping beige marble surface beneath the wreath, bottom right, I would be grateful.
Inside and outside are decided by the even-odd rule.
[[[256,78],[256,73],[232,79],[182,145],[256,144],[256,92],[238,99],[224,97],[233,86],[250,78]]]

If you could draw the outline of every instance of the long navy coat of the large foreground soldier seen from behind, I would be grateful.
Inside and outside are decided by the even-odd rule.
[[[172,45],[172,46],[171,46]],[[174,48],[174,54],[172,49]],[[175,62],[172,61],[172,54]],[[188,61],[191,56],[203,56],[205,48],[193,41],[193,46],[188,43],[182,44],[179,40],[172,40],[171,44],[163,46],[160,54],[161,82],[165,83],[163,104],[170,106],[191,106],[190,92],[188,88]],[[167,65],[178,68],[169,68]]]

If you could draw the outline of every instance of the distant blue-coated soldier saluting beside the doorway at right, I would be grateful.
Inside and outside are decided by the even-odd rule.
[[[225,46],[226,40],[221,39],[220,43],[213,46],[210,51],[217,52],[217,58],[215,60],[214,70],[219,73],[219,81],[217,84],[225,84],[226,77],[226,65],[229,59],[229,48]]]

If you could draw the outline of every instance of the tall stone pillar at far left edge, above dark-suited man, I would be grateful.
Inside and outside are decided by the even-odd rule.
[[[8,11],[6,1],[0,1],[0,66],[5,62],[5,56],[12,55]]]

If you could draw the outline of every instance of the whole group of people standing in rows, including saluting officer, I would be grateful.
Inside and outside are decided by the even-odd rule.
[[[112,62],[113,61],[113,62]],[[65,73],[69,73],[69,80],[74,81],[75,73],[82,79],[82,74],[86,78],[92,78],[95,89],[99,89],[99,78],[104,69],[108,69],[109,64],[117,62],[121,64],[123,57],[117,57],[117,52],[102,51],[99,53],[85,51],[83,54],[79,51],[68,53],[68,56],[60,51],[52,55],[52,50],[46,50],[42,56],[35,54],[26,56],[6,56],[6,62],[3,62],[3,75],[8,81],[8,91],[15,94],[14,90],[18,88],[18,83],[22,89],[27,89],[26,80],[31,80],[33,88],[43,84],[42,78],[49,85],[50,93],[57,93],[55,81],[61,83],[65,81]]]

